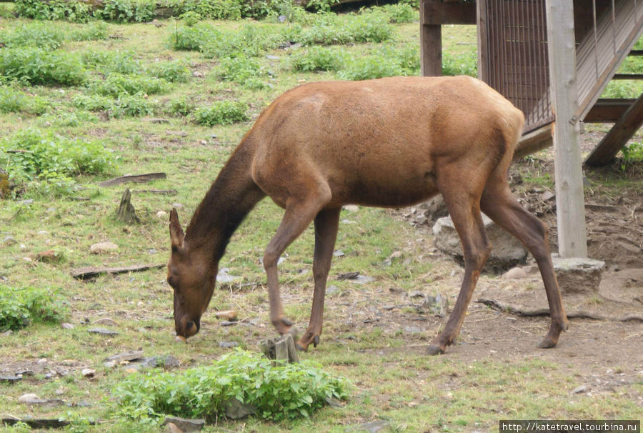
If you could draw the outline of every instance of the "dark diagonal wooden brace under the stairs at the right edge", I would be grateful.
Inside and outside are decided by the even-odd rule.
[[[643,94],[625,111],[621,119],[610,129],[591,154],[585,164],[604,166],[614,159],[619,150],[632,138],[643,124]]]

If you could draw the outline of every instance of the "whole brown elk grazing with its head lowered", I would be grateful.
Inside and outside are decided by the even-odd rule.
[[[507,183],[523,122],[507,99],[468,76],[318,82],[286,91],[241,140],[185,233],[171,211],[167,281],[174,288],[176,339],[199,332],[226,245],[264,196],[285,209],[264,254],[270,320],[279,334],[291,332],[292,322],[281,306],[277,261],[314,222],[312,311],[297,342],[307,350],[319,344],[342,206],[409,206],[441,193],[464,248],[464,279],[428,353],[443,353],[457,337],[489,257],[481,210],[536,259],[552,319],[539,347],[554,347],[567,316],[547,227],[520,206]]]

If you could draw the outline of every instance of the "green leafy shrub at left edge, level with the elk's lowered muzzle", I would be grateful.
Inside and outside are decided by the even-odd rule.
[[[66,307],[57,290],[0,284],[0,332],[17,331],[31,323],[60,322]]]

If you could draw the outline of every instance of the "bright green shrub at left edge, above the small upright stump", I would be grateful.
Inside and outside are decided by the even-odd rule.
[[[116,157],[100,141],[68,139],[41,129],[22,129],[0,141],[0,166],[18,181],[109,173]]]

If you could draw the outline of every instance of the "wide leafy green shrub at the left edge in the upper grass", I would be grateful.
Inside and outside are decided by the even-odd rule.
[[[0,75],[24,84],[75,86],[86,79],[84,66],[74,53],[39,48],[1,49]]]

